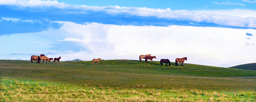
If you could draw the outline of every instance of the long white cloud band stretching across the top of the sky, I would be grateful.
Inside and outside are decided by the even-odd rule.
[[[242,5],[232,2],[212,2],[214,4]],[[57,1],[41,0],[2,0],[0,5],[15,5],[23,7],[57,7],[61,9],[73,9],[72,13],[81,14],[86,11],[99,11],[109,15],[131,15],[140,17],[156,17],[177,21],[204,22],[218,25],[256,28],[256,11],[254,10],[219,10],[219,11],[172,11],[167,9],[152,9],[146,7],[120,7],[120,6],[86,6],[59,3]],[[69,12],[70,13],[70,12]]]

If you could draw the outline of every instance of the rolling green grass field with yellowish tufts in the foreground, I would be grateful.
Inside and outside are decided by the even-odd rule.
[[[253,78],[248,78],[253,77]],[[160,62],[0,60],[0,101],[256,101],[256,71]]]

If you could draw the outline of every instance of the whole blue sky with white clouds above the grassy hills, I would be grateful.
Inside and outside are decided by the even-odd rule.
[[[256,0],[1,0],[0,59],[256,61]]]

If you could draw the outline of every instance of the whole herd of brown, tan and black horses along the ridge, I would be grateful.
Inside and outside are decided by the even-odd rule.
[[[148,60],[150,60],[150,63],[151,63],[151,61],[153,62],[153,58],[156,59],[156,56],[151,56],[151,54],[148,54],[148,55],[140,55],[140,57],[139,57],[140,62],[142,61],[142,58],[145,59],[145,62],[148,62]],[[33,61],[35,61],[35,60],[36,60],[36,63],[40,63],[40,61],[43,60],[43,63],[44,63],[44,61],[45,61],[46,64],[47,64],[47,61],[50,62],[50,61],[52,60],[53,63],[55,63],[56,61],[58,61],[58,64],[59,64],[60,57],[53,59],[53,58],[48,58],[48,57],[46,57],[46,56],[43,55],[43,54],[41,54],[40,56],[38,56],[38,55],[31,55],[31,63],[33,63]],[[187,57],[184,57],[184,58],[176,58],[176,59],[175,59],[175,65],[177,66],[177,65],[178,65],[178,62],[179,62],[179,65],[180,65],[180,62],[181,62],[181,65],[184,66],[185,60],[188,60]],[[95,62],[97,62],[97,65],[98,65],[99,61],[101,61],[101,58],[93,59],[93,60],[92,60],[92,65],[94,65]],[[166,63],[165,66],[167,66],[168,63],[169,63],[169,66],[171,65],[171,62],[170,62],[169,59],[161,59],[161,60],[160,60],[161,66],[163,66],[163,63]]]

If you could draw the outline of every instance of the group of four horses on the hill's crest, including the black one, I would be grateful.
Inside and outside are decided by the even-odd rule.
[[[140,55],[139,59],[140,59],[140,62],[142,61],[142,58],[145,59],[145,62],[148,62],[148,60],[150,60],[150,63],[151,61],[153,62],[153,58],[156,58],[156,56],[151,56],[151,54],[148,54],[148,55]],[[184,57],[184,58],[176,58],[175,59],[175,65],[177,66],[178,65],[178,62],[179,62],[179,65],[180,65],[180,62],[181,62],[181,65],[184,66],[184,62],[185,60],[188,60],[187,57]],[[171,62],[169,59],[161,59],[160,60],[160,64],[161,66],[163,66],[163,63],[166,63],[165,66],[167,66],[167,63],[169,63],[169,66],[171,66]]]

